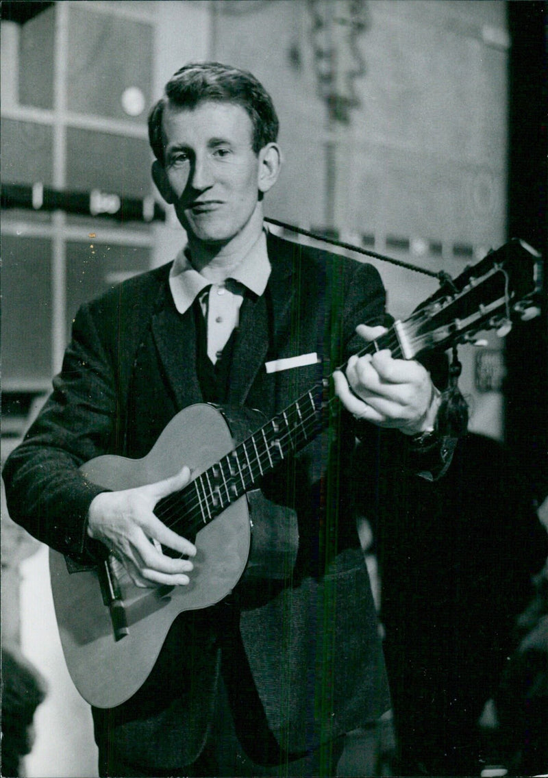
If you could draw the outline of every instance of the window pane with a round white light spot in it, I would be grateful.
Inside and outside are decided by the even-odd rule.
[[[151,102],[152,52],[153,30],[149,24],[72,6],[68,110],[142,124]],[[126,89],[139,90],[130,113],[122,107]],[[139,108],[138,113],[132,113]]]

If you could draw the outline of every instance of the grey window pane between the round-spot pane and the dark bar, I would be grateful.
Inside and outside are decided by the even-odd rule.
[[[67,187],[147,197],[152,189],[149,145],[107,132],[67,130]]]

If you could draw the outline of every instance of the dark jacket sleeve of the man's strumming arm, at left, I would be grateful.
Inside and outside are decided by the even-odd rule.
[[[10,517],[35,538],[77,562],[92,562],[100,544],[86,534],[99,486],[79,466],[104,454],[115,433],[116,372],[90,307],[76,315],[53,392],[23,443],[5,463]]]

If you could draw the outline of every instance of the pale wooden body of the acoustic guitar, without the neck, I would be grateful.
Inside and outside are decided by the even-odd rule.
[[[130,460],[105,455],[81,469],[86,478],[105,489],[131,489],[175,475],[184,464],[196,478],[233,449],[223,414],[212,405],[191,405],[174,416],[146,457]],[[295,526],[280,527],[293,555],[293,560],[285,562],[286,568],[297,555],[294,521]],[[65,661],[76,688],[90,704],[110,708],[125,702],[148,677],[177,615],[214,605],[236,586],[251,548],[246,496],[198,531],[195,545],[198,552],[188,586],[136,587],[116,562],[128,622],[128,634],[121,640],[114,639],[97,570],[69,573],[65,557],[50,552],[51,589]],[[260,570],[262,551],[257,552],[258,559],[251,566]]]

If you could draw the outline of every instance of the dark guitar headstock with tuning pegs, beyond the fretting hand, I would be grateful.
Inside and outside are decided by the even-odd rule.
[[[465,269],[421,303],[398,335],[407,359],[423,351],[473,342],[480,331],[506,335],[511,322],[540,314],[543,261],[515,238]]]

